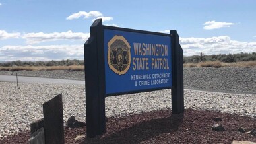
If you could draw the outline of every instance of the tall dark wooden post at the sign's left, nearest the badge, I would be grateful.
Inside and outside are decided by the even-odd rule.
[[[90,27],[90,38],[84,44],[87,137],[106,132],[103,42],[102,20],[95,20]]]

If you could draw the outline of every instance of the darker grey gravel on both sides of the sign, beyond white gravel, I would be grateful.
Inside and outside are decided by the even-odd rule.
[[[18,75],[84,80],[84,71],[17,71]],[[11,75],[0,71],[0,75]],[[184,68],[184,87],[256,94],[256,67]]]

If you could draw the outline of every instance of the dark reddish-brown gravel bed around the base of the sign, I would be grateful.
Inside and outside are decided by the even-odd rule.
[[[220,117],[222,121],[214,121]],[[225,131],[212,131],[220,123]],[[109,118],[106,133],[86,137],[86,127],[65,128],[65,143],[232,143],[233,140],[256,142],[256,136],[238,132],[256,129],[256,119],[212,111],[185,110],[171,114],[170,110],[154,111],[133,116]],[[26,143],[29,131],[11,135],[0,143]],[[78,136],[78,137],[77,137]],[[77,138],[77,139],[75,139]]]

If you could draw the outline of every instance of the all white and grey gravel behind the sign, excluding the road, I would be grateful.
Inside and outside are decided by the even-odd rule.
[[[11,72],[0,71],[0,75]],[[19,75],[84,79],[84,71],[18,71]],[[256,118],[256,68],[185,68],[185,87],[220,89],[251,94],[229,94],[185,90],[185,109],[227,112]],[[64,121],[75,116],[85,121],[84,85],[50,85],[0,82],[0,139],[30,129],[30,123],[42,118],[42,104],[63,94]],[[106,98],[106,116],[131,116],[171,108],[171,90],[129,94]],[[128,106],[127,106],[128,104]],[[1,143],[1,142],[0,142]]]

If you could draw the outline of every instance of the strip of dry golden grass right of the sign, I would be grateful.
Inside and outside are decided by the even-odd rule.
[[[256,67],[256,61],[241,61],[236,63],[206,61],[200,63],[184,63],[183,67]]]

